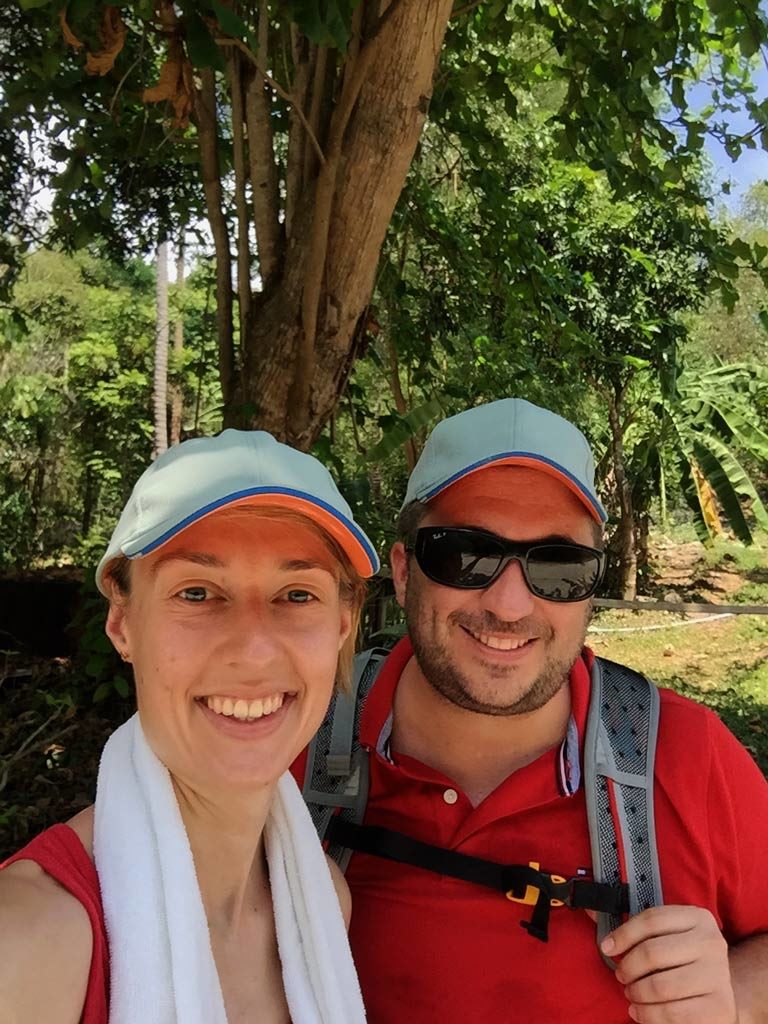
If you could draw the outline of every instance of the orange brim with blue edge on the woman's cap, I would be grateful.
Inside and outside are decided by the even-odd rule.
[[[237,505],[279,506],[290,511],[300,512],[322,526],[337,542],[361,577],[372,577],[379,570],[379,558],[376,551],[356,523],[322,499],[289,487],[253,487],[249,490],[226,495],[169,526],[158,537],[134,538],[130,544],[125,545],[123,554],[128,558],[140,558],[143,555],[148,555],[167,544],[187,526],[191,526],[193,523],[200,522],[201,519],[214,515],[222,509],[232,508]]]

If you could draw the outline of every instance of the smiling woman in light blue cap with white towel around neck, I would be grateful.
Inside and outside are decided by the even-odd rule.
[[[377,567],[328,471],[269,434],[145,471],[96,573],[138,714],[95,806],[0,872],[0,1020],[365,1019],[348,891],[287,769],[349,679]]]

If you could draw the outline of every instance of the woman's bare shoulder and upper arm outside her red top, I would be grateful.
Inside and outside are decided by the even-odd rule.
[[[92,951],[86,908],[38,863],[0,871],[0,1020],[77,1024]]]

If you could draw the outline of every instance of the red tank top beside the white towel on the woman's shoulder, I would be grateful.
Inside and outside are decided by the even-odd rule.
[[[79,836],[69,825],[53,825],[0,864],[0,869],[16,860],[33,860],[39,864],[85,907],[93,930],[93,953],[80,1024],[108,1024],[110,952],[101,893],[96,868]]]

